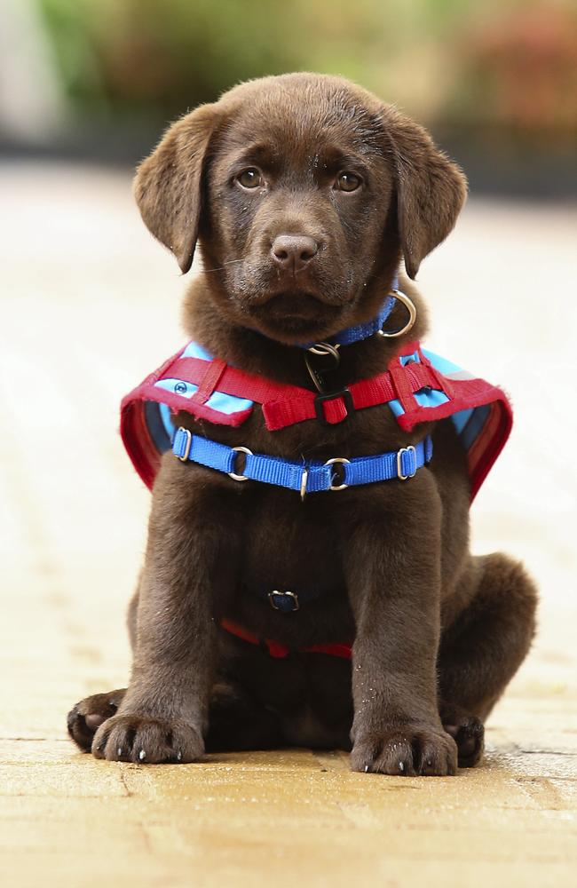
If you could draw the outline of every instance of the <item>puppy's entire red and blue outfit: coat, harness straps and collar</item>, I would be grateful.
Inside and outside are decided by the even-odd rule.
[[[472,376],[418,342],[399,348],[383,373],[336,392],[323,390],[322,378],[309,363],[310,353],[338,358],[336,350],[341,345],[352,345],[378,333],[396,336],[405,332],[383,332],[395,298],[402,297],[406,305],[409,303],[409,312],[411,308],[415,312],[407,297],[395,290],[393,293],[385,299],[378,317],[368,324],[344,330],[330,343],[302,346],[317,392],[246,373],[214,357],[202,345],[189,342],[123,399],[121,434],[140,478],[152,488],[162,453],[171,448],[185,463],[225,472],[234,482],[252,480],[288,488],[299,492],[302,499],[309,494],[342,491],[356,485],[406,482],[431,461],[430,437],[396,451],[352,459],[336,455],[321,463],[254,454],[245,447],[230,448],[185,428],[177,429],[172,421],[174,413],[184,411],[210,424],[240,427],[258,409],[265,427],[273,433],[304,422],[341,424],[358,410],[386,404],[406,432],[421,423],[451,418],[467,455],[472,502],[510,434],[510,402],[500,388]],[[414,320],[415,316],[412,317]],[[236,471],[240,452],[245,455],[241,473]],[[283,613],[299,609],[296,592],[274,591],[268,598],[272,607]],[[246,642],[264,646],[273,657],[290,653],[279,642],[261,641],[233,622],[223,620],[221,625]],[[317,645],[302,652],[349,657],[351,646]]]

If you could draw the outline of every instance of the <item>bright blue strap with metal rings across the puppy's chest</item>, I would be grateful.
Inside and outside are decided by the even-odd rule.
[[[246,455],[241,475],[235,472],[239,451]],[[261,481],[297,490],[304,497],[322,490],[342,490],[361,484],[375,484],[377,481],[413,478],[418,469],[431,461],[432,440],[428,435],[415,446],[409,445],[376,456],[360,456],[351,460],[337,456],[326,463],[318,460],[296,463],[277,456],[251,453],[248,448],[231,448],[180,427],[172,442],[172,452],[183,463],[190,461],[205,465],[217,472],[225,472],[237,481]],[[338,479],[336,465],[340,466]]]

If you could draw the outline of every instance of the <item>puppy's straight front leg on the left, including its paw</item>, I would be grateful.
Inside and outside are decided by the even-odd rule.
[[[197,482],[192,467],[164,460],[154,485],[130,685],[94,736],[96,757],[154,763],[202,756],[215,613],[232,588],[238,551],[229,498],[206,477]]]

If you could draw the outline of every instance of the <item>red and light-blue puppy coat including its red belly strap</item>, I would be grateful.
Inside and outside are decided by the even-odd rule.
[[[339,424],[352,411],[383,404],[389,404],[407,432],[419,423],[451,416],[467,452],[471,501],[512,424],[510,403],[501,389],[423,351],[418,343],[405,346],[378,376],[328,396],[245,373],[190,343],[124,398],[124,445],[138,474],[152,487],[162,452],[170,447],[170,413],[186,411],[212,424],[240,426],[255,403],[261,405],[270,432],[315,419]],[[250,644],[261,644],[261,639],[233,622],[223,620],[221,625]],[[262,644],[274,658],[290,653],[288,646],[272,639],[263,639]],[[352,646],[313,645],[301,651],[350,658]]]

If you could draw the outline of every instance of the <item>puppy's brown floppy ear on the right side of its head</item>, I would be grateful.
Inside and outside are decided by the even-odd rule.
[[[423,258],[452,230],[467,194],[456,163],[423,127],[387,108],[383,116],[397,187],[397,222],[405,267],[415,279]]]

